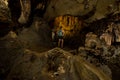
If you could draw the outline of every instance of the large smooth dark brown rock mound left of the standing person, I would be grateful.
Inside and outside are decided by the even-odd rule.
[[[50,27],[39,17],[34,18],[31,27],[23,28],[18,34],[18,38],[24,44],[25,48],[40,51],[43,48],[49,49],[52,47]]]

